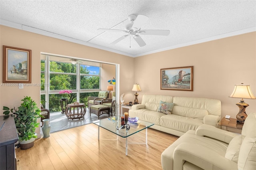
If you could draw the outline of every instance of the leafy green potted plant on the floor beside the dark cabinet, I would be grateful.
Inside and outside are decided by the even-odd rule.
[[[28,149],[34,146],[34,140],[37,138],[35,131],[40,123],[37,123],[40,114],[40,109],[36,106],[36,102],[31,97],[24,97],[23,103],[17,109],[3,108],[4,115],[9,115],[10,112],[15,115],[14,121],[19,136],[20,149]]]

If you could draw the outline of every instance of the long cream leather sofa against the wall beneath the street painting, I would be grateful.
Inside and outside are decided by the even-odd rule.
[[[158,112],[160,101],[174,103],[172,113]],[[141,104],[133,105],[130,117],[154,123],[151,128],[182,136],[202,124],[217,126],[221,115],[221,102],[216,99],[143,95]]]

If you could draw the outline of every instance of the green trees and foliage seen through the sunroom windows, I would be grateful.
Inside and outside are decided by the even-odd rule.
[[[71,63],[62,63],[56,61],[50,61],[50,91],[52,90],[65,90],[76,89],[76,67]],[[45,83],[45,61],[41,60],[41,90],[44,89]],[[88,75],[90,71],[85,65],[80,67],[80,89],[99,89],[100,77]],[[48,87],[46,87],[48,88]],[[71,94],[77,101],[77,94],[73,92]],[[87,106],[88,96],[98,96],[98,92],[83,92],[80,93],[80,103],[84,103]],[[60,99],[63,94],[49,94],[49,110],[50,112],[61,111]],[[45,95],[41,95],[41,100],[45,101]]]

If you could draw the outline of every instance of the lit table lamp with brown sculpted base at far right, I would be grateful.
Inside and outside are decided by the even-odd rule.
[[[244,103],[244,99],[256,99],[252,93],[250,85],[243,85],[243,83],[241,83],[241,85],[235,85],[234,91],[229,97],[241,99],[239,103],[236,103],[240,109],[236,115],[236,123],[244,123],[247,117],[245,109],[249,106],[247,103]]]

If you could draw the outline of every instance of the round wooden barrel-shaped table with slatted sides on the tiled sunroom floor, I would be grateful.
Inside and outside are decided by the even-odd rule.
[[[74,105],[74,103],[68,104],[65,113],[68,119],[81,119],[86,113],[86,107],[84,103],[78,103],[78,105]]]

